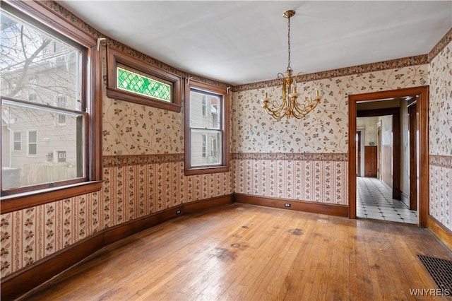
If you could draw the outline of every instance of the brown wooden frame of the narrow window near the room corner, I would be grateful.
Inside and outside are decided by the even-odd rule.
[[[214,93],[222,96],[222,127],[221,131],[221,146],[222,146],[222,164],[221,165],[206,165],[206,166],[191,166],[191,139],[190,139],[190,92],[191,89],[205,91],[206,93]],[[230,95],[227,94],[225,88],[220,88],[215,85],[201,83],[199,81],[189,81],[185,84],[185,175],[204,175],[217,172],[229,172],[230,170],[230,148],[229,148],[229,120],[230,120]],[[207,141],[206,141],[207,143]]]

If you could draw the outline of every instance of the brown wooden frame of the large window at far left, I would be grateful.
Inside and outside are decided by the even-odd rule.
[[[49,30],[66,36],[85,49],[86,76],[83,78],[82,90],[85,96],[85,110],[89,112],[87,119],[89,131],[85,138],[86,155],[83,164],[87,175],[83,182],[60,182],[56,187],[52,187],[52,185],[37,186],[32,191],[17,191],[13,194],[2,195],[0,197],[0,213],[18,211],[100,191],[102,189],[102,141],[100,137],[102,129],[102,60],[101,53],[97,50],[97,40],[40,2],[4,0],[1,6],[20,18],[33,20]]]

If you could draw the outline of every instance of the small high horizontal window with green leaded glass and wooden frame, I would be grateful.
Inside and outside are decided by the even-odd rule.
[[[108,49],[107,96],[180,112],[181,78],[144,61]]]

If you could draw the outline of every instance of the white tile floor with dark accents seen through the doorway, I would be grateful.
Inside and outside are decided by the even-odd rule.
[[[417,224],[417,212],[392,198],[392,191],[374,177],[357,177],[356,213],[358,218],[391,220]]]

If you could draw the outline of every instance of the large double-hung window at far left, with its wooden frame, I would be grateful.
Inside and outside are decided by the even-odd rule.
[[[100,55],[93,37],[54,19],[34,1],[1,4],[1,148],[11,150],[1,155],[1,213],[102,187]]]

